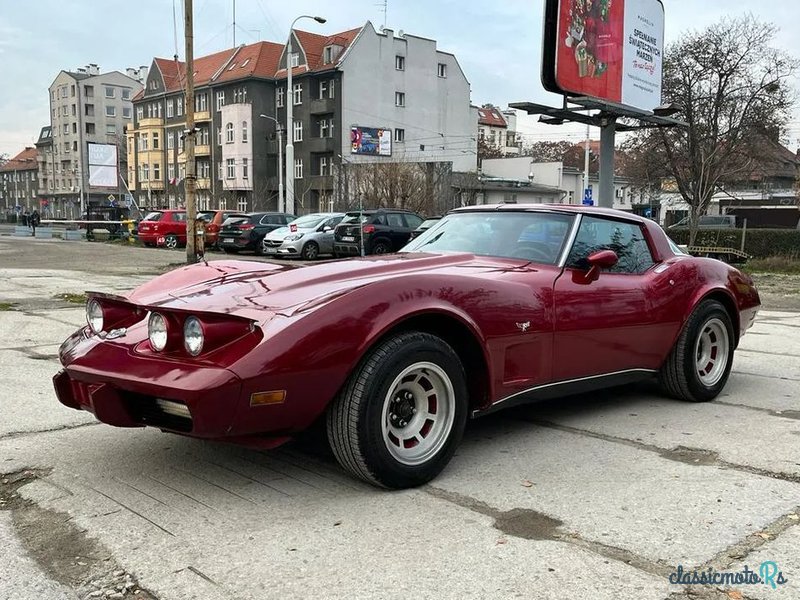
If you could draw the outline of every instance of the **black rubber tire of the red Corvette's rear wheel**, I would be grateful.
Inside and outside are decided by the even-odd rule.
[[[722,339],[718,334],[722,333],[720,324],[724,327],[727,339]],[[718,331],[715,333],[713,329]],[[698,342],[704,332],[710,332],[711,339],[719,339],[717,353],[727,347],[727,354],[720,359],[718,379],[714,381],[703,381],[698,363],[698,347],[702,342]],[[666,362],[659,372],[659,383],[666,394],[679,400],[689,402],[707,402],[713,400],[725,387],[733,364],[733,351],[735,349],[735,333],[730,315],[725,307],[716,300],[704,300],[692,312],[689,319],[681,331],[678,341],[667,357]],[[713,358],[711,359],[713,363]],[[712,364],[709,363],[709,364]],[[704,369],[707,370],[706,367]],[[713,367],[712,367],[713,369]]]

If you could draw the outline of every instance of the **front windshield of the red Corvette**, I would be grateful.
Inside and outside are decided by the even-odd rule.
[[[573,222],[547,212],[474,212],[444,217],[403,252],[469,252],[555,264]]]

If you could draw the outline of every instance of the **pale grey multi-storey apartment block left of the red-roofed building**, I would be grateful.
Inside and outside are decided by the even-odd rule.
[[[75,71],[61,71],[50,85],[50,133],[53,210],[65,216],[76,214],[81,204],[102,204],[113,188],[89,184],[89,143],[119,146],[121,173],[125,169],[124,128],[133,118],[133,97],[142,89],[146,67],[101,73],[96,64]]]

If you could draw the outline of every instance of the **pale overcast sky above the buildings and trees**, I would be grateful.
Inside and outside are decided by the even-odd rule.
[[[238,0],[236,43],[284,41],[295,16],[310,13],[325,25],[302,28],[330,34],[384,22],[382,0]],[[777,45],[800,57],[800,2],[752,0],[664,0],[666,39],[699,29],[725,15],[753,12],[783,27]],[[150,65],[154,56],[175,54],[173,6],[178,11],[178,47],[183,59],[181,0],[0,0],[0,154],[32,145],[48,124],[47,89],[61,69],[97,63],[103,72]],[[233,45],[233,0],[194,0],[195,56]],[[558,104],[539,81],[543,0],[388,0],[386,25],[437,40],[452,52],[472,85],[472,102],[536,101]],[[800,88],[798,80],[794,85]],[[796,112],[796,115],[800,113]],[[787,143],[796,149],[800,116],[790,123]],[[585,128],[547,126],[524,119],[528,142],[579,141]],[[598,135],[595,132],[593,135]]]

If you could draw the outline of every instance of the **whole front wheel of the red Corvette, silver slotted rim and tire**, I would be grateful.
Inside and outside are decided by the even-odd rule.
[[[373,485],[427,483],[450,461],[467,418],[458,355],[441,338],[402,333],[373,349],[328,409],[339,463]]]

